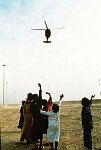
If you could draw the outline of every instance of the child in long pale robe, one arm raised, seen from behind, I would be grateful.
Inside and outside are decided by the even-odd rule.
[[[48,116],[48,129],[46,140],[47,143],[51,144],[51,150],[53,150],[53,143],[55,142],[55,150],[57,150],[59,137],[60,137],[60,119],[59,119],[59,107],[61,104],[61,100],[63,98],[63,94],[60,95],[59,105],[53,104],[52,111],[43,111],[40,110],[40,113]]]

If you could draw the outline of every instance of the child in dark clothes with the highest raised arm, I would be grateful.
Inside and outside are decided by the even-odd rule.
[[[41,84],[38,83],[39,86],[39,95],[33,94],[33,101],[30,106],[30,113],[33,117],[33,125],[32,125],[32,143],[34,144],[34,149],[42,149],[42,139],[43,139],[43,118],[42,114],[40,114],[40,109],[42,108],[42,89]],[[40,140],[40,145],[38,147],[38,140]]]

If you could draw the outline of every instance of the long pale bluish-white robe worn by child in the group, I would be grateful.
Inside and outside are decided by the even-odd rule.
[[[40,113],[43,115],[49,116],[46,141],[47,142],[59,142],[59,137],[60,137],[59,112],[54,113],[53,111],[46,112],[46,111],[40,110]]]

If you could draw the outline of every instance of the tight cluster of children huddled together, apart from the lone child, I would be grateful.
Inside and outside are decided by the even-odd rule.
[[[28,93],[26,101],[22,101],[18,128],[21,129],[20,141],[26,140],[26,144],[34,144],[34,149],[43,148],[43,134],[46,134],[46,145],[57,150],[60,137],[59,107],[63,94],[60,95],[59,104],[52,102],[50,93],[49,100],[42,99],[41,84],[39,95]],[[39,144],[38,144],[39,142]]]

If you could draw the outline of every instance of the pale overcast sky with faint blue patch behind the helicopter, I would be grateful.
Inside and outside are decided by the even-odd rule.
[[[46,20],[51,43],[43,43]],[[20,103],[28,92],[53,101],[100,97],[101,0],[0,0],[0,103]]]

